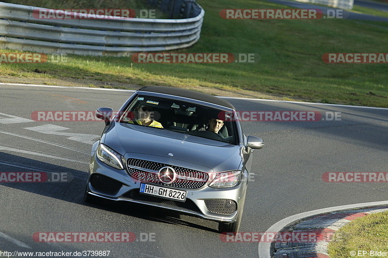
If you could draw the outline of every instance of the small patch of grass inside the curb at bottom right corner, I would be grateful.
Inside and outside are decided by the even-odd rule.
[[[357,218],[339,229],[329,243],[328,252],[332,258],[352,257],[351,251],[367,251],[364,257],[372,257],[370,251],[388,252],[387,243],[388,212],[380,212]]]

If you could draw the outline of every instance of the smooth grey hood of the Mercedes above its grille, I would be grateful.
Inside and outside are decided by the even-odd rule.
[[[242,162],[240,146],[127,123],[113,123],[101,142],[126,158],[143,154],[144,159],[209,172],[235,170]]]

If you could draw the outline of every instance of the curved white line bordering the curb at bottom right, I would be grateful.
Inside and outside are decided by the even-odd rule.
[[[284,218],[284,219],[276,222],[274,225],[272,225],[270,228],[268,228],[267,231],[265,231],[266,232],[265,234],[267,234],[269,232],[274,232],[276,234],[282,228],[285,228],[286,226],[288,226],[290,224],[293,224],[293,223],[295,223],[303,218],[315,216],[315,215],[318,215],[321,213],[360,209],[360,208],[380,206],[380,205],[388,205],[388,201],[357,203],[357,204],[329,207],[329,208],[314,210],[314,211],[310,211],[310,212],[298,213],[298,214],[292,215],[290,217]],[[258,247],[258,251],[259,251],[259,258],[271,258],[271,243],[260,242],[259,247]]]

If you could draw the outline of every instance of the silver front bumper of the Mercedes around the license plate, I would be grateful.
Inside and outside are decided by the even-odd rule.
[[[248,177],[247,174],[244,174],[242,182],[231,188],[211,188],[207,184],[198,189],[163,186],[187,191],[186,201],[179,202],[140,194],[141,182],[133,179],[126,169],[115,169],[101,162],[98,160],[95,152],[91,156],[89,173],[86,189],[89,195],[111,201],[131,202],[159,207],[206,220],[225,223],[233,223],[236,221],[238,210],[241,208],[240,200],[246,191]],[[152,184],[149,182],[146,183]]]

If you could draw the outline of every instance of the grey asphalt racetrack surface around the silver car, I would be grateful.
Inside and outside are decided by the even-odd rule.
[[[224,243],[217,223],[82,200],[91,143],[102,121],[32,121],[34,111],[117,110],[129,91],[0,85],[0,172],[65,172],[71,182],[0,183],[0,250],[110,251],[109,257],[257,257],[258,243]],[[242,232],[296,213],[386,200],[388,185],[323,182],[324,172],[388,172],[388,109],[228,99],[242,111],[340,112],[340,121],[246,121],[254,152]],[[332,113],[328,113],[332,114]],[[338,113],[339,114],[339,113]],[[132,243],[38,243],[36,232],[133,232]],[[146,238],[151,241],[146,241]],[[102,257],[102,256],[100,256]]]

